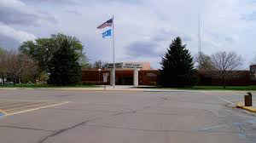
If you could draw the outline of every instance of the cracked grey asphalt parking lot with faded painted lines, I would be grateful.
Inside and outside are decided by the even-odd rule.
[[[255,114],[233,107],[243,94],[0,89],[0,142],[255,143]]]

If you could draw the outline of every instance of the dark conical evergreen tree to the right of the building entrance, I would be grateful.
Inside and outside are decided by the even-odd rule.
[[[185,87],[195,83],[193,58],[176,37],[161,60],[160,83],[166,87]]]

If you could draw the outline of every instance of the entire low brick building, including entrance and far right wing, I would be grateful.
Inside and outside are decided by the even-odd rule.
[[[106,69],[83,69],[83,83],[110,84],[111,68],[113,64],[108,64]],[[137,77],[135,77],[137,70]],[[256,85],[256,65],[250,66],[250,71],[231,71],[230,77],[226,79],[226,85]],[[106,78],[104,80],[104,75]],[[116,63],[115,72],[116,85],[134,85],[137,79],[138,85],[157,85],[160,78],[158,70],[152,70],[148,62],[122,62]],[[214,71],[201,71],[197,73],[199,77],[198,85],[222,85],[221,77]]]

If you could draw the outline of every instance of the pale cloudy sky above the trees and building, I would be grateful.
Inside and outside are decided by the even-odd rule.
[[[110,40],[96,26],[113,14],[116,60],[159,68],[174,37],[196,54],[201,14],[202,51],[235,51],[249,64],[256,56],[255,8],[256,0],[0,0],[0,46],[17,49],[61,32],[78,37],[91,62],[112,61]]]

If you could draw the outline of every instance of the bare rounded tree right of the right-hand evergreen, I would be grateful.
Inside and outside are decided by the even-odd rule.
[[[234,70],[241,67],[243,60],[241,55],[235,52],[217,52],[211,56],[212,66],[222,79],[224,89],[226,88],[226,78],[234,74]]]

